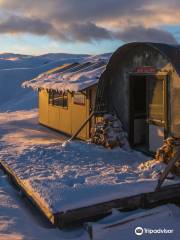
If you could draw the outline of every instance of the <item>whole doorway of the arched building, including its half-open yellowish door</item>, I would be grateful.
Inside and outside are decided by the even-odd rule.
[[[132,147],[156,152],[165,139],[167,125],[166,77],[130,76],[130,134]]]

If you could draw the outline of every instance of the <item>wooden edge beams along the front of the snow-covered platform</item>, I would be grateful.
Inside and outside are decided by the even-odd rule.
[[[53,213],[40,200],[30,192],[9,166],[0,161],[0,168],[8,175],[12,182],[46,218],[58,227],[66,227],[76,223],[83,223],[92,219],[110,214],[112,208],[131,210],[135,208],[151,208],[164,203],[180,201],[180,183],[162,187],[158,192],[142,193],[134,196],[102,202],[87,207]],[[138,183],[137,183],[138,187]]]

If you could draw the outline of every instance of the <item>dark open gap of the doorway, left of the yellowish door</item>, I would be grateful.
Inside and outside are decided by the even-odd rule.
[[[130,77],[130,144],[147,148],[147,79]]]

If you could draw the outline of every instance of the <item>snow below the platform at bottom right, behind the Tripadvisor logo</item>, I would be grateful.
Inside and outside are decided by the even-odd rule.
[[[114,210],[112,215],[100,220],[98,223],[88,224],[92,228],[93,240],[123,240],[131,239],[179,239],[180,208],[167,204],[150,210],[135,210],[132,212],[119,212]],[[135,234],[136,227],[151,230],[170,230],[166,234],[144,233]]]

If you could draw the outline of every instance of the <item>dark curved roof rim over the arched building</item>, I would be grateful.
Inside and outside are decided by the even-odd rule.
[[[117,64],[124,57],[127,51],[131,51],[133,48],[138,46],[148,46],[159,51],[168,61],[173,65],[177,73],[180,75],[180,46],[170,45],[165,43],[151,43],[151,42],[133,42],[127,43],[120,48],[118,48],[109,60],[107,65],[107,70],[116,68]]]

